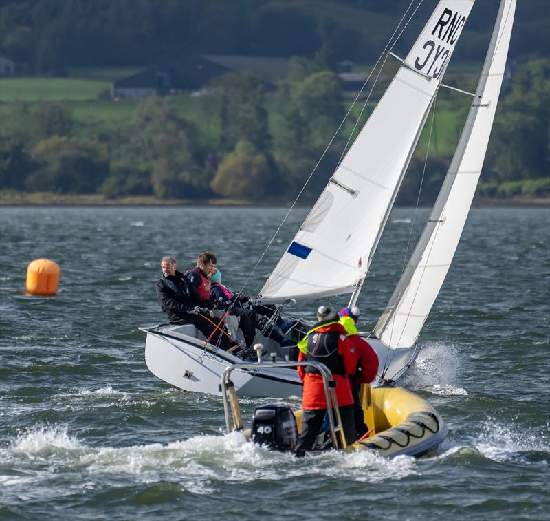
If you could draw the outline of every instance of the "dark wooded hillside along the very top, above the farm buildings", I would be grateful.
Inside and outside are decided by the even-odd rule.
[[[369,63],[410,0],[0,0],[0,54],[34,72],[170,63],[195,54],[307,56]],[[521,4],[521,5],[520,5]],[[419,6],[406,49],[433,3]],[[481,61],[497,0],[478,2],[456,60]],[[547,0],[518,3],[511,58],[548,46]],[[539,51],[540,52],[540,51]]]

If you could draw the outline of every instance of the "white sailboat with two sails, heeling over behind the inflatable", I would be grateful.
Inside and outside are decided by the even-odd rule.
[[[257,304],[284,310],[296,301],[351,294],[358,299],[382,231],[474,0],[441,0],[358,137],[261,289]],[[395,385],[417,356],[417,339],[454,257],[481,173],[514,20],[516,0],[501,0],[489,49],[461,138],[404,272],[372,332],[363,336],[380,360],[378,383]],[[392,53],[393,54],[393,53]],[[395,54],[393,55],[395,56]],[[452,87],[448,87],[452,88]],[[461,91],[464,92],[464,91]],[[311,324],[299,320],[296,339]],[[219,394],[234,354],[206,342],[192,325],[153,326],[145,358],[160,379]],[[284,361],[261,334],[263,361]],[[300,396],[296,370],[235,371],[240,396]]]

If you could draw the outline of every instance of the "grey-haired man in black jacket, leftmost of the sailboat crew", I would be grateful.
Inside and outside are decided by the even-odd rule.
[[[210,343],[225,350],[232,347],[235,343],[228,337],[223,326],[217,328],[221,320],[214,317],[212,311],[197,306],[193,300],[191,284],[183,273],[177,271],[176,259],[162,257],[160,266],[162,278],[157,282],[157,298],[162,310],[168,314],[168,321],[192,323],[207,339],[212,335]]]

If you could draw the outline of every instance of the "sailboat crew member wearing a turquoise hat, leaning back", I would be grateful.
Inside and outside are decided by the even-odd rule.
[[[259,315],[251,308],[241,307],[243,301],[247,301],[242,295],[234,294],[227,287],[221,284],[221,271],[213,268],[210,271],[210,300],[218,309],[229,309],[230,315],[239,317],[239,328],[241,328],[245,337],[246,347],[250,348],[256,337],[256,328],[258,328],[265,337],[270,338],[283,347],[296,345],[296,342],[287,339],[278,332],[270,321]]]

